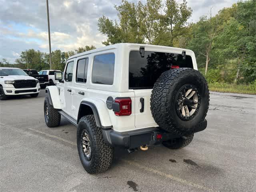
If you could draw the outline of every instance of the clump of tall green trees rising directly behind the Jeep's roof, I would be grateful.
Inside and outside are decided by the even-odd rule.
[[[165,11],[161,0],[147,0],[145,4],[122,0],[115,8],[120,22],[105,16],[98,20],[100,32],[107,36],[105,45],[129,42],[172,46],[174,38],[187,32],[187,20],[192,13],[186,0],[182,4],[167,0]]]

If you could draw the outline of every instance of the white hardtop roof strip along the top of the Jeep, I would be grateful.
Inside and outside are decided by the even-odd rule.
[[[118,44],[113,44],[113,45],[108,45],[105,47],[101,47],[101,48],[96,48],[90,51],[85,51],[82,53],[78,53],[75,54],[71,57],[68,58],[68,60],[72,59],[72,58],[76,58],[76,57],[80,57],[83,55],[87,55],[87,54],[92,54],[92,53],[96,53],[96,52],[101,52],[101,51],[106,51],[106,50],[112,50],[112,49],[116,49],[116,48],[120,48],[121,46],[141,46],[141,47],[145,47],[145,48],[168,48],[168,49],[175,49],[175,50],[179,50],[179,51],[188,51],[188,52],[193,52],[192,50],[188,50],[188,49],[184,49],[184,48],[176,48],[176,47],[169,47],[169,46],[160,46],[160,45],[149,45],[149,44],[136,44],[136,43],[118,43]],[[194,52],[193,52],[194,54]]]

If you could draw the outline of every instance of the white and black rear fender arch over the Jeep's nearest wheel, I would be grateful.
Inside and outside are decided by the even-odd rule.
[[[83,116],[94,115],[96,125],[103,129],[112,128],[106,104],[101,100],[82,100],[78,110],[77,124]]]

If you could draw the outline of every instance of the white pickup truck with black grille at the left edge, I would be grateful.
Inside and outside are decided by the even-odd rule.
[[[19,68],[0,67],[0,100],[9,95],[37,97],[40,92],[39,80],[28,76]]]

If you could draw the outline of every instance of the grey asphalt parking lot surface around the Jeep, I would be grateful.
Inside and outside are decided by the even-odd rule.
[[[76,127],[44,122],[45,92],[0,101],[0,191],[256,191],[256,96],[210,94],[208,127],[186,148],[116,149],[107,172],[87,174]]]

